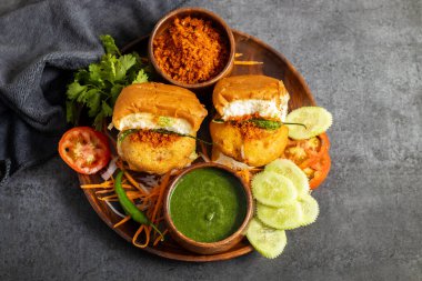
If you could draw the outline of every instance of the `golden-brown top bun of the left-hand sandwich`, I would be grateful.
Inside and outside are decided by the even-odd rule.
[[[131,84],[121,91],[113,110],[113,126],[120,130],[122,118],[140,112],[185,119],[194,131],[207,116],[193,92],[154,82]]]

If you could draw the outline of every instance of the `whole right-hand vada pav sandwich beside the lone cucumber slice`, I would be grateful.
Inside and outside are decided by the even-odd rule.
[[[213,160],[219,153],[251,167],[279,158],[288,142],[289,93],[282,81],[265,76],[221,79],[213,91],[217,116],[210,123]]]

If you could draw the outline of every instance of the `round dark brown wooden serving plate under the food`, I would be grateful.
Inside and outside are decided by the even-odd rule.
[[[263,63],[254,66],[234,66],[231,76],[265,74],[281,79],[290,93],[289,111],[304,106],[315,106],[315,101],[304,79],[284,58],[284,56],[272,49],[270,46],[247,33],[233,30],[233,34],[235,39],[235,52],[242,53],[241,57],[237,58],[238,61],[260,61]],[[147,56],[147,46],[148,37],[139,38],[124,47],[122,52],[128,53],[131,51],[137,51],[143,57]],[[213,111],[211,103],[211,92],[212,89],[202,90],[197,92],[197,96],[201,102],[207,106],[209,112],[212,114]],[[199,136],[204,139],[209,139],[209,119],[210,118],[204,121],[199,132]],[[79,174],[79,181],[80,184],[100,183],[102,182],[102,179],[98,174]],[[114,230],[119,235],[131,243],[132,237],[139,228],[139,224],[133,221],[129,221],[121,227],[113,229],[113,224],[119,222],[122,218],[119,217],[113,210],[111,210],[104,201],[101,201],[96,197],[96,190],[84,189],[83,191],[88,198],[88,201],[91,203],[98,215],[100,215],[100,218],[112,230]],[[227,252],[211,255],[201,255],[181,248],[175,241],[170,238],[170,235],[167,235],[164,242],[159,243],[157,247],[143,248],[143,250],[152,254],[173,260],[207,262],[233,259],[253,251],[253,248],[250,245],[247,239],[243,239],[240,243]]]

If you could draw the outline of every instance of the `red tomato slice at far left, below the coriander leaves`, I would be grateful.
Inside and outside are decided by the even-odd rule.
[[[110,161],[107,137],[90,127],[67,131],[59,142],[59,153],[70,168],[84,174],[98,172]]]

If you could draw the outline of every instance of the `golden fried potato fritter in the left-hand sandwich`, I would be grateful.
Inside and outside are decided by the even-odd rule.
[[[194,150],[194,139],[151,131],[129,134],[121,143],[121,157],[131,170],[158,174],[188,165]]]

